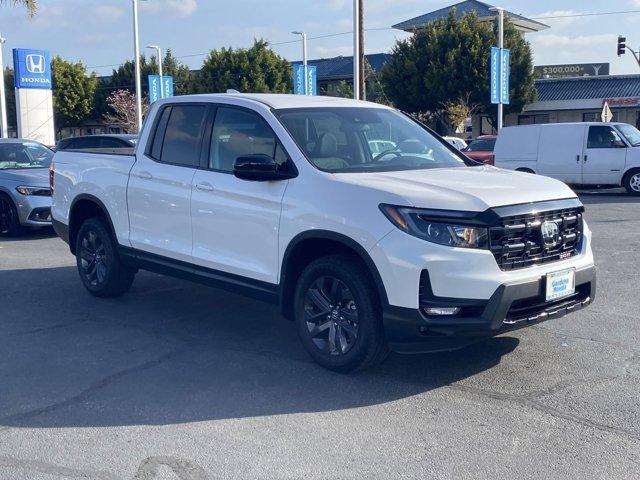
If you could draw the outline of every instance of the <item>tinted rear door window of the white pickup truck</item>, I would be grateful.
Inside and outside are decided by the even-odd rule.
[[[204,105],[173,105],[171,107],[162,141],[161,162],[185,167],[198,166],[206,113],[207,107]]]

